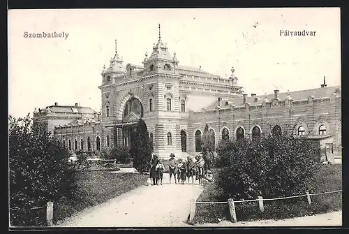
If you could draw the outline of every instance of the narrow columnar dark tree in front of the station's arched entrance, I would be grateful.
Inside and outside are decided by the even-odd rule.
[[[151,159],[151,145],[149,144],[149,132],[147,125],[140,119],[135,129],[135,136],[130,148],[130,156],[133,159],[133,167],[139,173],[149,170],[149,161]]]

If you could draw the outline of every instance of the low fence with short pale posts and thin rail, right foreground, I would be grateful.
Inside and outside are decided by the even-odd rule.
[[[205,202],[205,201],[195,201],[191,200],[191,210],[189,214],[189,221],[193,221],[194,216],[195,216],[195,204],[228,204],[229,210],[230,210],[230,221],[233,223],[237,222],[237,216],[235,212],[235,203],[248,203],[248,202],[256,202],[258,201],[259,206],[260,206],[260,211],[264,212],[264,205],[263,201],[264,200],[283,200],[283,199],[290,199],[290,198],[301,198],[306,196],[308,200],[308,204],[311,205],[311,196],[318,196],[322,194],[327,194],[327,193],[338,193],[341,192],[342,189],[340,190],[335,190],[335,191],[327,191],[327,192],[322,192],[322,193],[309,193],[306,192],[306,194],[303,195],[296,195],[296,196],[287,196],[287,197],[281,197],[281,198],[262,198],[262,196],[258,196],[258,199],[249,199],[249,200],[233,200],[232,198],[229,198],[227,201],[214,201],[214,202]]]

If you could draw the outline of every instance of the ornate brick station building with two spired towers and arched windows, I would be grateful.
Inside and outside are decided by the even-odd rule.
[[[172,152],[182,156],[200,152],[206,124],[216,144],[222,138],[288,131],[296,136],[329,138],[327,147],[332,142],[334,151],[341,149],[340,87],[327,87],[324,82],[318,89],[247,96],[237,85],[234,68],[229,78],[221,78],[201,67],[179,63],[176,53],[171,54],[163,43],[160,31],[142,66],[125,65],[115,41],[114,57],[110,66],[103,68],[98,87],[101,112],[89,108],[88,115],[78,117],[67,112],[62,114],[67,117],[64,121],[58,115],[50,119],[47,115],[36,117],[36,113],[34,121],[50,119],[49,129],[70,150],[130,146],[140,118],[147,124],[154,153],[165,158]]]

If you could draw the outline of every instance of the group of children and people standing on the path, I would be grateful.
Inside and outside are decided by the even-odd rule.
[[[204,184],[205,182],[213,181],[213,175],[211,173],[211,163],[214,161],[214,154],[209,152],[209,149],[203,154],[198,154],[195,156],[195,161],[192,156],[188,156],[187,160],[175,159],[175,155],[170,154],[170,160],[168,161],[168,169],[170,173],[170,183],[172,182],[172,176],[174,183],[184,184],[186,181],[192,182],[198,180],[199,184]],[[150,162],[150,178],[152,180],[152,185],[162,185],[163,184],[163,172],[165,166],[163,165],[163,160],[158,159],[157,155],[151,157]]]

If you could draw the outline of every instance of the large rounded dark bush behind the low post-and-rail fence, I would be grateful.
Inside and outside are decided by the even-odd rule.
[[[318,146],[286,135],[226,143],[220,154],[226,164],[216,184],[234,199],[304,194],[320,166]]]

